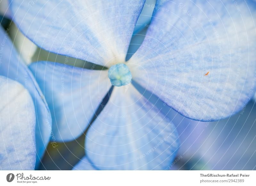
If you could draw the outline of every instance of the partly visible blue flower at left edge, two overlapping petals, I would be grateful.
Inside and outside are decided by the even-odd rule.
[[[0,169],[34,169],[50,140],[52,119],[28,65],[0,28]]]

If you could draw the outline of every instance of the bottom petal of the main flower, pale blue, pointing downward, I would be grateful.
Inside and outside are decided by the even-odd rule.
[[[132,85],[115,87],[89,128],[85,154],[99,169],[162,170],[178,150],[172,122]]]

